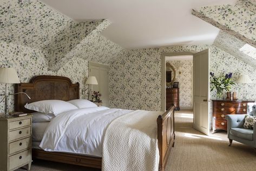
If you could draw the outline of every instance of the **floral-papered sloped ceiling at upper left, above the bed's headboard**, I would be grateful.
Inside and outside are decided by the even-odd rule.
[[[36,0],[0,1],[0,41],[39,49],[50,70],[73,57],[106,63],[122,50],[101,36],[110,24],[103,19],[76,22]]]

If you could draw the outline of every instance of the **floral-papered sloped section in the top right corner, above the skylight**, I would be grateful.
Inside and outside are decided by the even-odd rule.
[[[252,2],[239,0],[235,5],[205,6],[193,9],[192,14],[256,48],[256,15]]]

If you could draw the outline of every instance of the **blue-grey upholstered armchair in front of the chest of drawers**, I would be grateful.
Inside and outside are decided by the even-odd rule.
[[[252,106],[256,103],[248,103],[247,114],[252,111]],[[227,120],[227,137],[229,139],[229,146],[232,141],[238,141],[251,146],[256,149],[256,122],[253,129],[245,129],[243,127],[245,122],[245,115],[226,115]]]

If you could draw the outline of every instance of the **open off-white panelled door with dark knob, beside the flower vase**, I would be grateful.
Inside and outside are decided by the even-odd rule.
[[[193,55],[194,128],[209,135],[209,49]]]

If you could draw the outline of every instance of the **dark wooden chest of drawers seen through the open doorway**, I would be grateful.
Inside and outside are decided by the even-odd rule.
[[[174,105],[174,110],[180,110],[179,104],[179,88],[166,89],[166,109]]]

